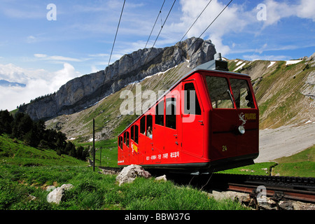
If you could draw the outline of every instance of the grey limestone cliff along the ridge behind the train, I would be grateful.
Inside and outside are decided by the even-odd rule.
[[[20,106],[19,111],[28,113],[34,120],[76,113],[128,83],[166,71],[186,60],[193,68],[214,59],[215,53],[211,41],[201,38],[188,38],[172,47],[140,49],[124,55],[102,71],[70,80],[55,94]]]

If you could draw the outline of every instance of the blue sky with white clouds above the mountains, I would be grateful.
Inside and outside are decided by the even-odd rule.
[[[164,0],[126,0],[111,63],[144,48]],[[104,69],[123,0],[0,0],[0,109],[15,109],[66,81]],[[230,0],[165,0],[147,48],[200,36]],[[53,3],[53,8],[48,5]],[[262,4],[263,7],[258,7]],[[229,59],[288,60],[315,52],[315,1],[234,0],[201,36]],[[50,14],[53,13],[53,14]],[[48,20],[55,15],[55,20]],[[49,17],[49,16],[48,16]]]

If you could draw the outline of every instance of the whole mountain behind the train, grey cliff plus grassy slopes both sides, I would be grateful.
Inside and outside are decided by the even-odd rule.
[[[150,51],[124,55],[107,70],[74,78],[55,94],[19,110],[33,119],[44,118],[48,128],[61,130],[69,139],[91,139],[93,118],[103,127],[97,131],[97,139],[116,137],[137,118],[120,114],[123,90],[131,90],[135,96],[136,83],[141,84],[142,92],[168,90],[195,66],[213,59],[216,49],[210,40],[190,38],[172,47],[152,48],[155,57]],[[315,53],[290,61],[225,60],[229,71],[251,76],[261,130],[315,122]]]

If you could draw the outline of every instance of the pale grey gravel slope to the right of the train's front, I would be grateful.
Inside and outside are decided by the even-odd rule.
[[[315,144],[315,122],[260,130],[259,156],[254,162],[272,161],[299,153]]]

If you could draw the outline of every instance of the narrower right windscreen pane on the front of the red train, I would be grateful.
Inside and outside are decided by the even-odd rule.
[[[238,109],[254,109],[253,94],[244,79],[230,78],[235,104]]]

